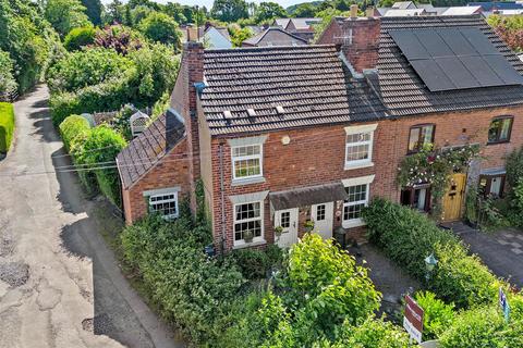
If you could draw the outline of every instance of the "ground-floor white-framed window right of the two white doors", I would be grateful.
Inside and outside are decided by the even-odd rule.
[[[342,181],[348,195],[343,202],[343,227],[364,225],[362,210],[368,206],[369,188],[373,181],[374,175]]]

